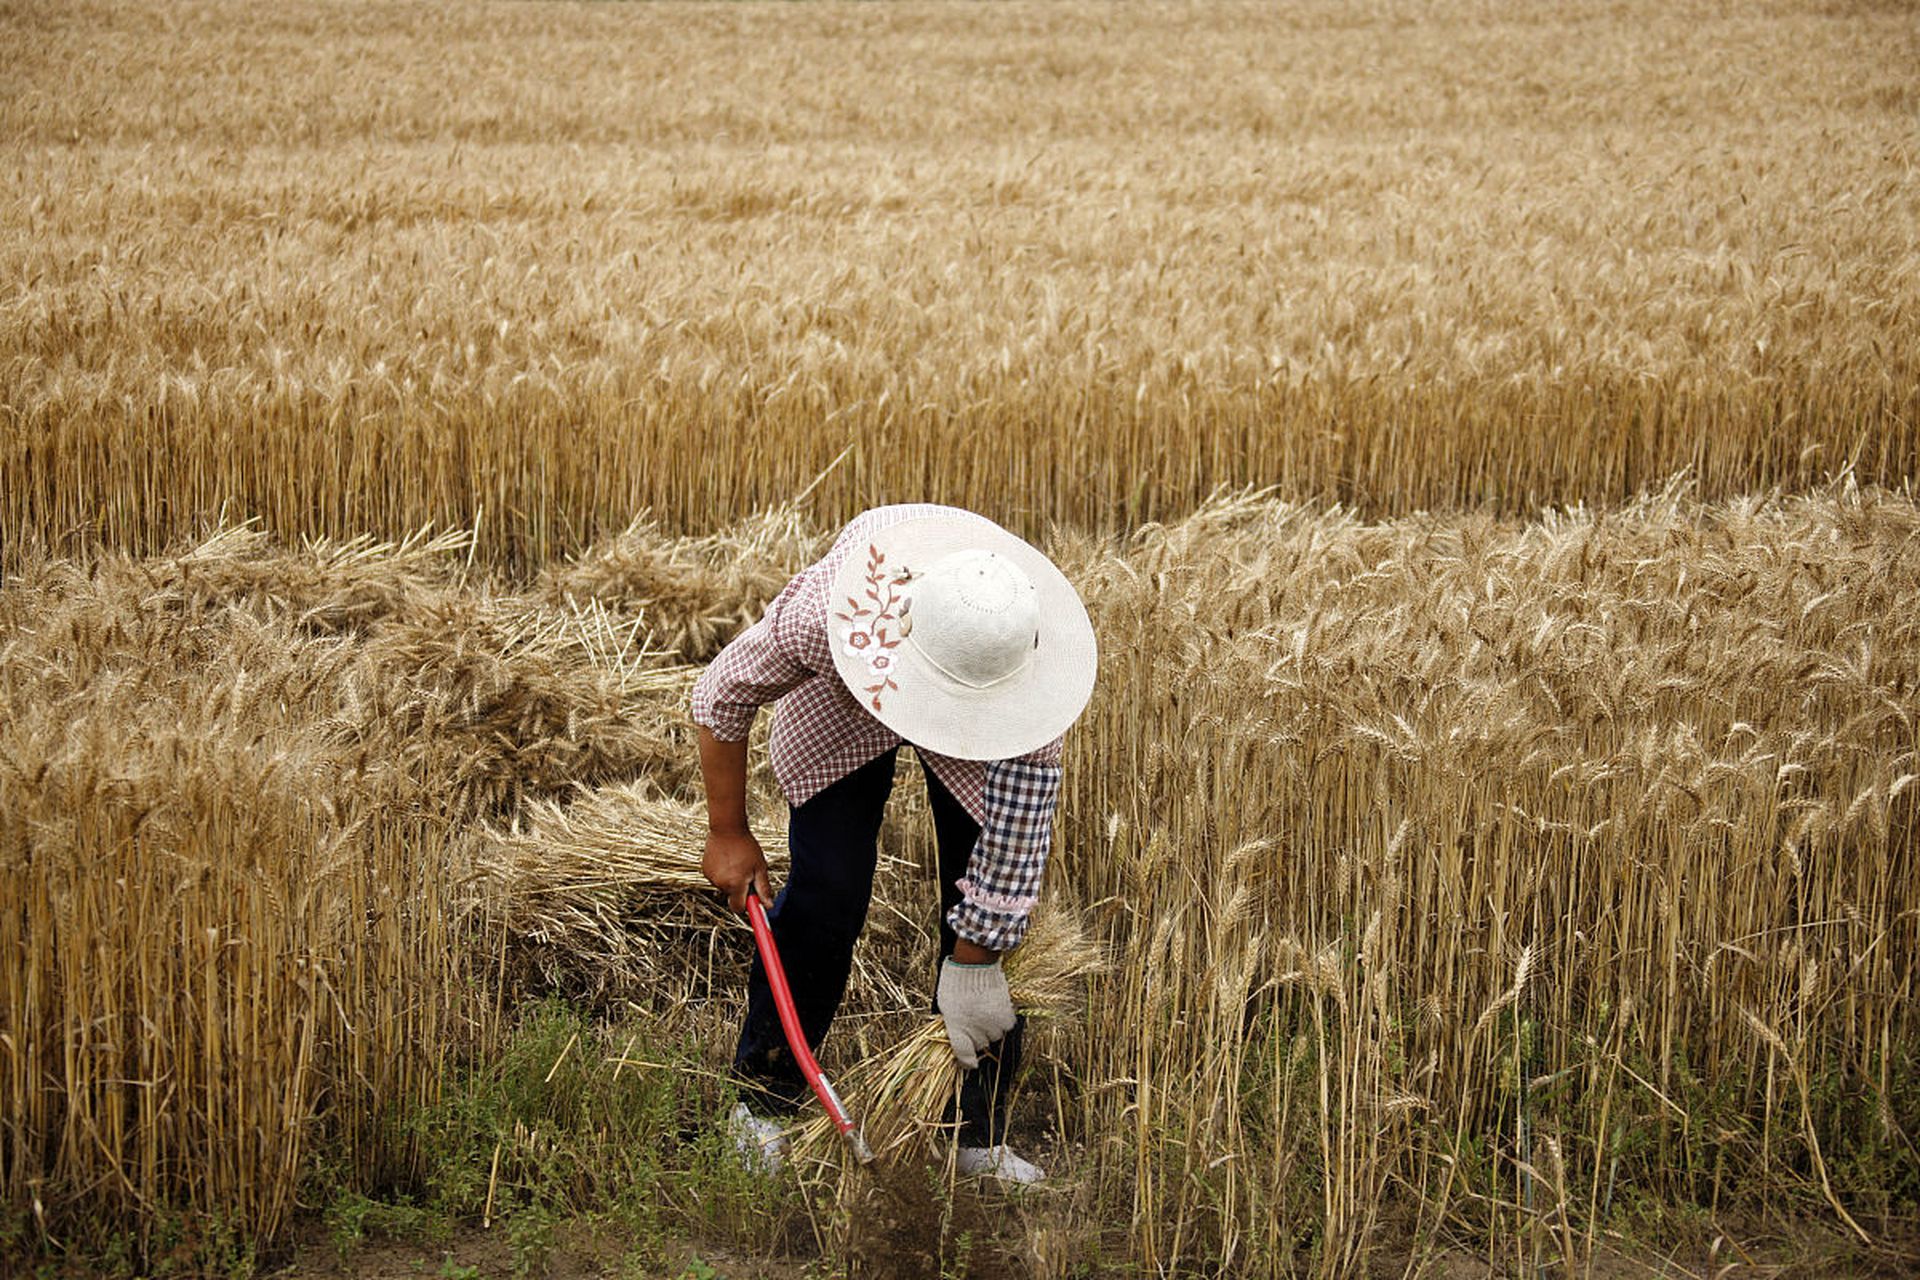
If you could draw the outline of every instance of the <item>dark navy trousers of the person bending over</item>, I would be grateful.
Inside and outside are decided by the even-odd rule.
[[[841,996],[847,994],[852,946],[866,925],[866,908],[874,896],[874,867],[879,864],[879,819],[893,793],[897,754],[899,748],[860,766],[806,804],[795,806],[787,819],[787,850],[793,862],[787,883],[766,917],[774,927],[787,984],[793,988],[801,1029],[806,1032],[808,1048],[816,1052],[833,1023]],[[922,773],[927,779],[927,800],[933,806],[933,831],[939,842],[941,958],[947,958],[956,940],[947,912],[960,902],[954,883],[966,877],[968,858],[979,841],[979,823],[924,764]],[[979,1055],[977,1071],[962,1073],[958,1107],[962,1146],[995,1146],[1004,1140],[1000,1134],[1006,1126],[1006,1086],[1020,1067],[1023,1031],[1025,1019]],[[797,1111],[808,1092],[806,1079],[780,1029],[780,1011],[774,1007],[774,992],[758,954],[747,977],[747,1023],[733,1052],[733,1075],[743,1092],[766,1111]],[[947,1119],[952,1121],[954,1115],[948,1113]]]

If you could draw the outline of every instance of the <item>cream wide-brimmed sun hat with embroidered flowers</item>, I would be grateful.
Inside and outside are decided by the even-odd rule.
[[[1092,697],[1098,649],[1073,583],[973,512],[876,530],[841,562],[828,612],[860,706],[943,756],[1023,756]]]

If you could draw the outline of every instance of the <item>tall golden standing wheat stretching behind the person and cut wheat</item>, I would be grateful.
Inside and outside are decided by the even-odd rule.
[[[847,445],[837,514],[1035,530],[1920,445],[1899,4],[4,21],[10,549],[230,505],[540,558]]]

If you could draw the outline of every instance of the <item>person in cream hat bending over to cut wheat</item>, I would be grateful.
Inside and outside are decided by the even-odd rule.
[[[770,754],[791,814],[791,869],[768,917],[801,1027],[818,1048],[847,990],[874,892],[893,762],[914,747],[927,779],[941,871],[935,1004],[962,1073],[958,1169],[1002,1182],[1044,1174],[1004,1142],[1021,1019],[1000,956],[1027,931],[1052,842],[1060,739],[1092,693],[1087,610],[1052,560],[954,507],[856,516],[693,685],[707,783],[701,871],[747,908],[772,896],[747,827],[747,733],[778,699]],[[733,1054],[747,1096],[730,1126],[774,1169],[780,1117],[806,1082],[755,958]]]

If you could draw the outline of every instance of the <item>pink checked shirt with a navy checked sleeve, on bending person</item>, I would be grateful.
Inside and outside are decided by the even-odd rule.
[[[929,503],[876,507],[854,516],[828,555],[801,570],[693,685],[695,723],[728,743],[745,739],[758,710],[776,702],[768,754],[787,804],[804,804],[902,741],[868,714],[835,674],[828,593],[841,562],[874,532],[931,514],[991,524],[973,512]],[[1060,800],[1060,745],[1062,739],[1054,739],[1018,760],[995,762],[954,760],[914,747],[981,827],[960,881],[960,906],[947,921],[962,938],[995,952],[1025,936],[1027,913],[1039,896]]]

